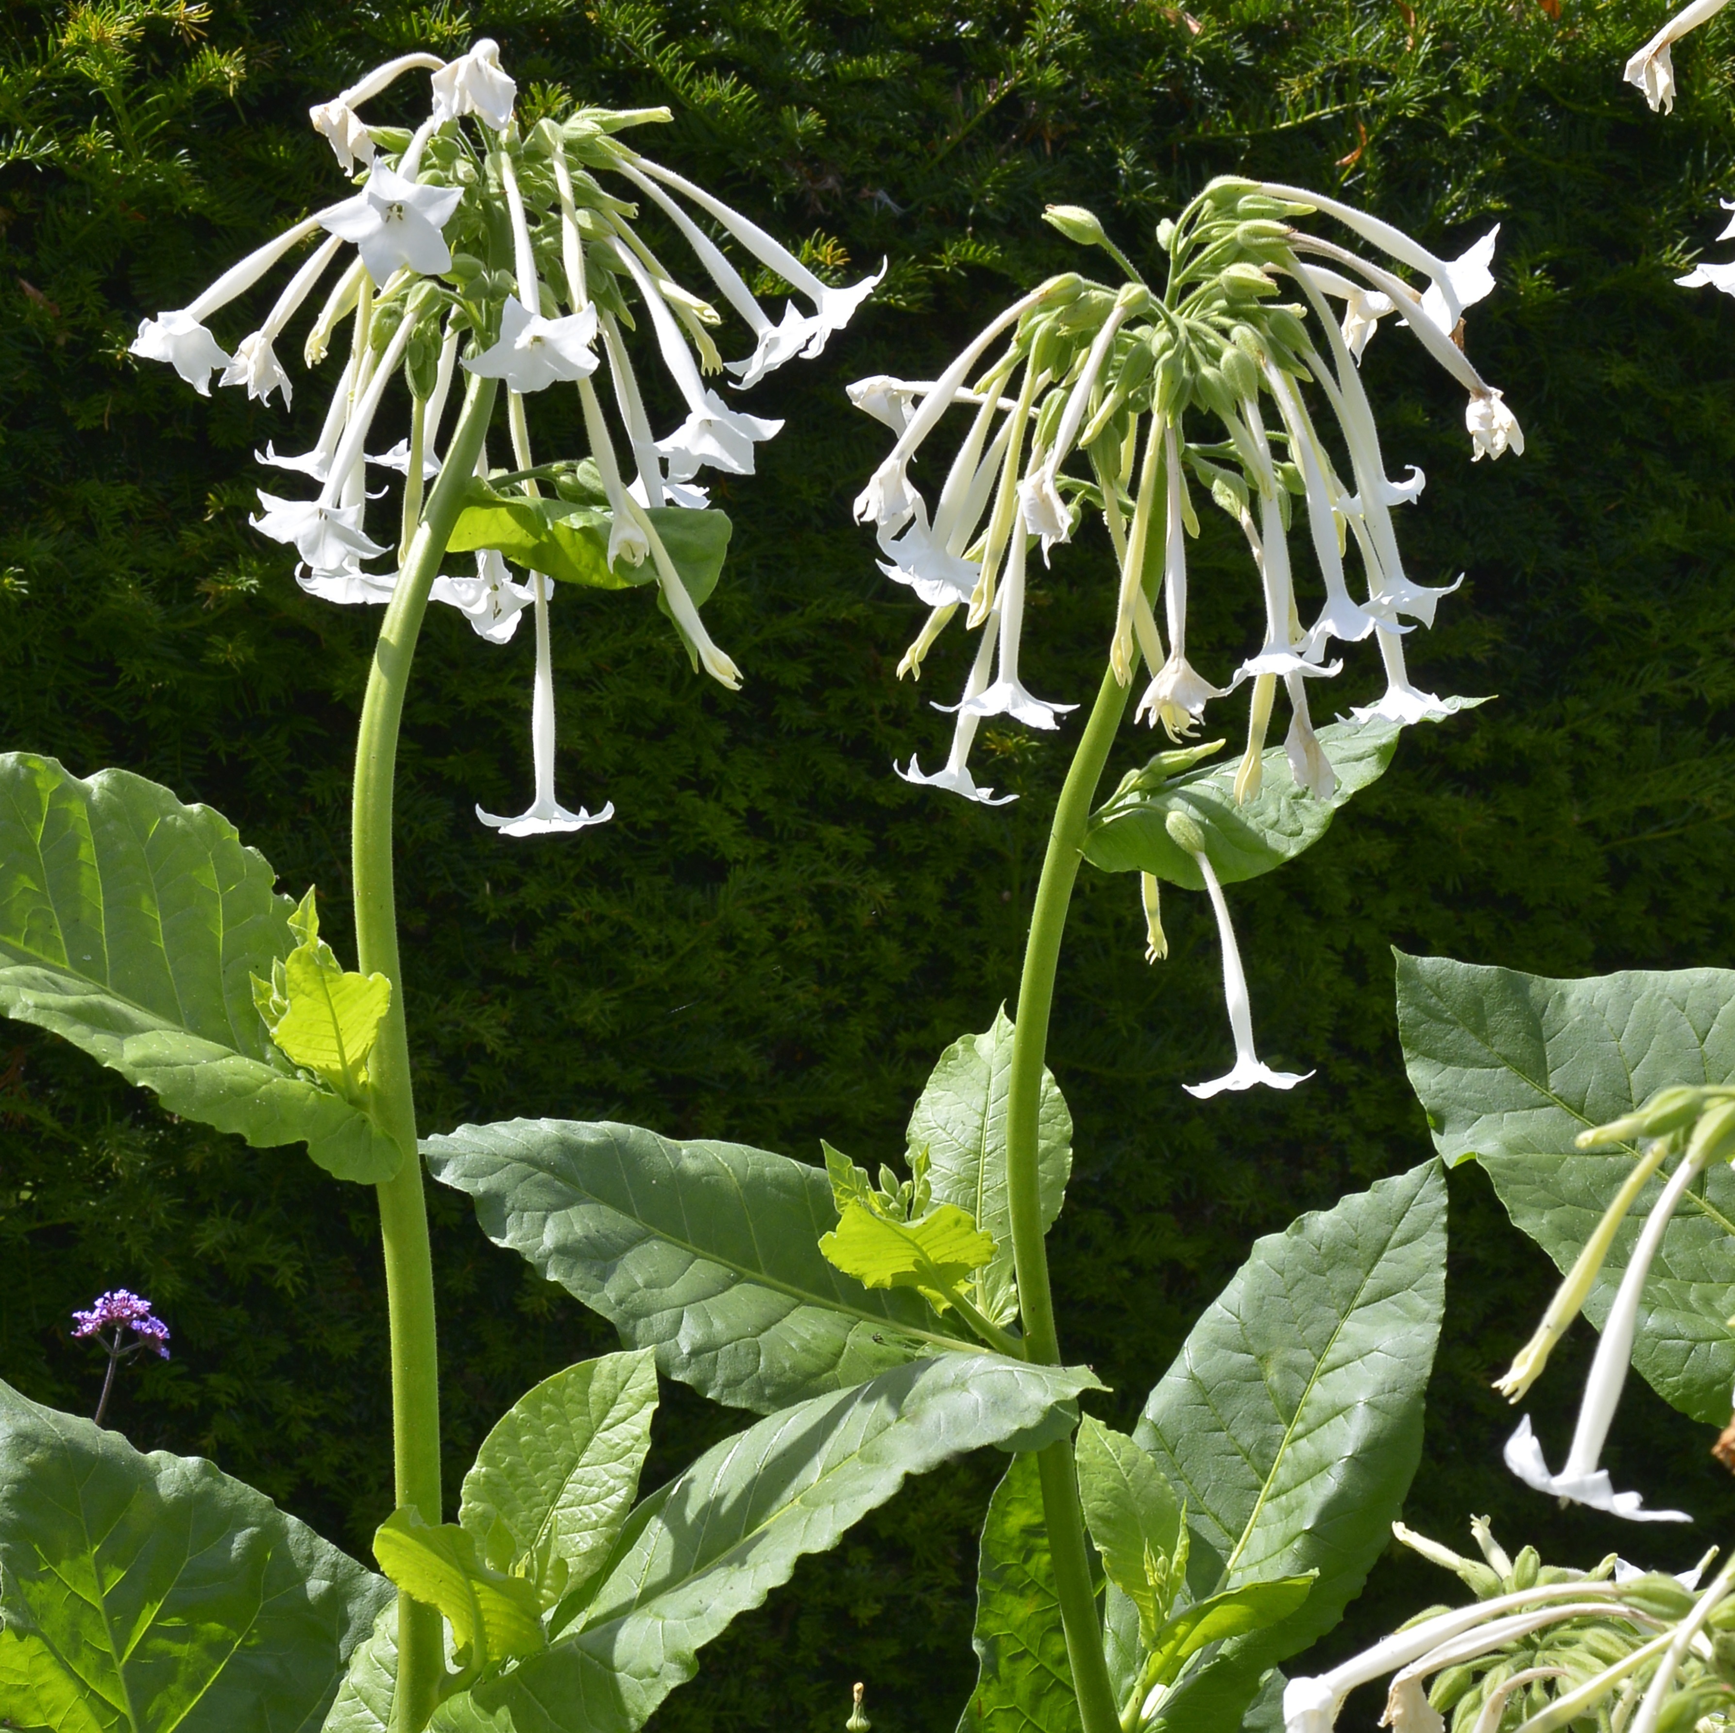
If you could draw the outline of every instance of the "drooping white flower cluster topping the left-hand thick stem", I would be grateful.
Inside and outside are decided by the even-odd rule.
[[[430,113],[415,132],[376,127],[359,109],[413,71],[432,75]],[[312,451],[283,456],[272,444],[260,461],[318,486],[314,498],[260,491],[253,527],[293,545],[304,590],[331,602],[387,602],[409,555],[423,510],[423,487],[441,474],[448,402],[460,369],[507,387],[510,472],[477,465],[484,493],[505,489],[519,501],[540,498],[524,399],[573,385],[583,409],[590,453],[581,468],[600,508],[588,527],[606,546],[609,581],[654,581],[696,663],[737,685],[734,663],[711,642],[670,550],[666,512],[704,510],[701,470],[753,474],[753,449],[781,422],[732,408],[706,376],[734,375],[737,389],[795,359],[817,356],[841,330],[878,276],[833,288],[770,234],[618,135],[666,109],[576,108],[564,120],[543,118],[527,134],[515,121],[517,88],[493,42],[444,62],[406,54],[375,68],[331,102],[311,111],[345,173],[363,170],[350,198],[314,212],[224,272],[184,309],[139,326],[134,354],[170,363],[196,390],[219,383],[246,387],[250,397],[290,401],[290,375],[276,343],[309,297],[335,278],[304,342],[318,366],[340,324],[349,354],[337,371],[330,409]],[[618,191],[599,175],[612,177]],[[626,196],[621,196],[621,194]],[[722,314],[684,288],[633,226],[649,203],[696,255],[715,291],[746,326],[751,350],[725,363],[711,337]],[[725,257],[713,229],[737,243],[756,265],[789,284],[779,321],[760,305]],[[238,300],[304,243],[312,252],[293,271],[259,330],[229,352],[206,321]],[[347,265],[345,248],[354,248]],[[803,305],[805,304],[805,305]],[[635,319],[638,309],[640,319]],[[658,437],[651,427],[628,343],[649,323],[661,366],[685,404],[685,420]],[[642,366],[642,361],[638,363]],[[373,427],[396,378],[408,387],[403,439],[371,455]],[[611,415],[597,380],[606,378],[612,416],[625,435],[623,470]],[[403,475],[401,531],[375,540],[368,507],[368,467]],[[579,465],[566,465],[571,474]],[[630,474],[630,479],[626,479]],[[489,481],[508,475],[498,489]],[[396,548],[389,541],[396,540]],[[536,801],[519,819],[481,814],[505,834],[576,829],[609,817],[567,812],[553,798],[553,683],[548,657],[548,574],[510,574],[501,552],[475,546],[474,574],[441,576],[434,600],[460,609],[493,644],[508,640],[524,609],[534,609],[536,696],[533,746]],[[507,548],[507,553],[514,553]],[[375,564],[380,562],[380,564]],[[645,578],[637,567],[647,567]]]

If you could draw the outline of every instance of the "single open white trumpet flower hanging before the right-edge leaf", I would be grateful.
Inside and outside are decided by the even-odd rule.
[[[1620,1278],[1615,1303],[1608,1308],[1601,1339],[1596,1344],[1596,1358],[1591,1362],[1591,1376],[1584,1384],[1584,1400],[1579,1403],[1579,1424],[1572,1433],[1572,1449],[1567,1452],[1567,1466],[1558,1473],[1548,1471],[1542,1459],[1542,1445],[1530,1429],[1527,1414],[1518,1429],[1506,1440],[1506,1466],[1537,1492],[1551,1492],[1558,1499],[1570,1499],[1574,1504],[1588,1504],[1610,1516],[1624,1516],[1633,1523],[1690,1523],[1686,1511],[1647,1511],[1645,1501],[1636,1492],[1615,1492],[1608,1480],[1608,1469],[1598,1468],[1603,1443],[1608,1440],[1608,1428],[1620,1402],[1620,1390],[1626,1384],[1627,1365],[1633,1358],[1633,1336],[1638,1329],[1638,1308],[1645,1294],[1645,1278],[1650,1275],[1652,1261],[1662,1246],[1676,1206],[1686,1188],[1704,1171],[1711,1157],[1709,1140],[1695,1138],[1688,1147],[1681,1166],[1676,1167],[1662,1195],[1645,1218],[1645,1228],[1633,1247],[1633,1261]]]

